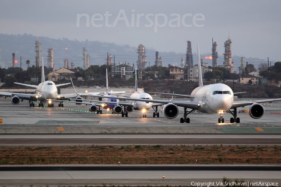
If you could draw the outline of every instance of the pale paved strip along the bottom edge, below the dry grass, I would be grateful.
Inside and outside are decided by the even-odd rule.
[[[0,170],[2,186],[191,185],[191,182],[212,182],[218,186],[223,178],[246,183],[281,182],[280,166],[269,165],[37,165],[0,166]]]

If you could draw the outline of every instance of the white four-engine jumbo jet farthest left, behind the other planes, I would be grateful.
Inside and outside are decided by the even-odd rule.
[[[20,101],[29,100],[29,107],[34,107],[34,102],[39,101],[38,104],[39,107],[43,107],[45,103],[48,103],[48,107],[53,107],[54,104],[51,99],[59,100],[59,107],[63,107],[63,100],[69,99],[68,97],[74,97],[77,99],[82,99],[80,96],[77,96],[75,94],[57,94],[57,87],[63,86],[71,83],[65,83],[65,84],[57,84],[53,81],[45,81],[45,75],[44,75],[44,62],[42,58],[42,78],[41,83],[37,85],[30,85],[30,84],[22,84],[22,83],[15,83],[15,84],[21,84],[24,86],[29,86],[32,88],[36,88],[36,94],[24,94],[24,93],[10,93],[10,92],[0,92],[0,95],[4,95],[5,98],[12,97],[11,103],[14,105],[17,105],[20,103]]]

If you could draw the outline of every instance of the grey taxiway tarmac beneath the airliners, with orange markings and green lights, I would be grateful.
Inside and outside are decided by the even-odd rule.
[[[180,123],[183,108],[174,119],[152,117],[151,108],[143,118],[141,111],[111,114],[102,110],[102,114],[89,112],[89,105],[78,106],[65,103],[64,108],[29,107],[28,101],[12,105],[10,99],[0,98],[0,133],[280,133],[281,102],[264,103],[265,114],[260,119],[253,119],[248,113],[238,113],[239,124],[229,123],[231,114],[224,115],[225,123],[217,123],[219,114],[191,113],[190,123]],[[38,105],[36,105],[38,106]],[[237,108],[237,111],[249,107]],[[60,130],[61,129],[61,130]]]

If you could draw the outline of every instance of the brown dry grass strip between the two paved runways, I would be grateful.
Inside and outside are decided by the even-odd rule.
[[[281,146],[5,146],[0,164],[281,164],[280,153]]]

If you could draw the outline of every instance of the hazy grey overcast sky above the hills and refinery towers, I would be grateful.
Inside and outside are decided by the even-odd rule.
[[[281,1],[20,1],[0,0],[0,32],[111,42],[162,52],[232,54],[280,61]],[[87,18],[88,17],[88,18]],[[88,20],[87,20],[88,19]]]

